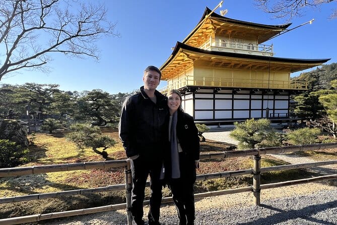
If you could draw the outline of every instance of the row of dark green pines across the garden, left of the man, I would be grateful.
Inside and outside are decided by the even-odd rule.
[[[109,94],[100,89],[79,93],[61,91],[58,86],[36,83],[0,85],[0,118],[5,118],[10,109],[15,115],[26,115],[25,105],[29,105],[30,111],[42,111],[42,116],[53,116],[62,124],[81,121],[115,126],[122,103],[131,94]]]

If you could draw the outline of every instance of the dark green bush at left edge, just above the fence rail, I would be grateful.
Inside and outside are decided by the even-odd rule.
[[[15,167],[27,161],[28,149],[10,140],[0,139],[0,168]]]

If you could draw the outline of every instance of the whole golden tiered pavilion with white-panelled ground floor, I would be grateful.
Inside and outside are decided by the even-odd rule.
[[[167,86],[178,89],[184,111],[196,123],[232,124],[249,118],[287,122],[290,96],[307,90],[291,73],[320,66],[329,59],[274,57],[264,44],[291,24],[265,25],[218,15],[206,8],[195,28],[160,67]]]

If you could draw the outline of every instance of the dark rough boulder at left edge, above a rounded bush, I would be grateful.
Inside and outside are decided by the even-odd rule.
[[[8,139],[24,147],[28,147],[27,129],[16,120],[0,121],[0,139]]]

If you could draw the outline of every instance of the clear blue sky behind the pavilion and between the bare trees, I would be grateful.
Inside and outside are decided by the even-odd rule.
[[[108,18],[117,22],[115,31],[121,37],[104,37],[98,42],[100,61],[94,59],[69,59],[62,54],[52,54],[49,74],[40,71],[21,71],[5,76],[1,83],[26,82],[59,84],[64,91],[102,89],[111,94],[130,92],[143,85],[143,71],[148,65],[160,67],[170,56],[171,48],[182,41],[204,13],[206,7],[213,10],[220,0],[100,0],[108,8]],[[277,25],[288,23],[286,19],[273,19],[271,15],[254,7],[253,0],[225,0],[228,18],[254,23]],[[294,59],[330,59],[337,62],[337,18],[329,20],[336,2],[323,4],[321,8],[308,8],[304,15],[293,18],[289,29],[311,19],[305,25],[265,42],[274,44],[275,57]],[[315,69],[315,68],[313,68]],[[293,74],[293,76],[298,74]],[[159,86],[166,85],[161,81]]]

